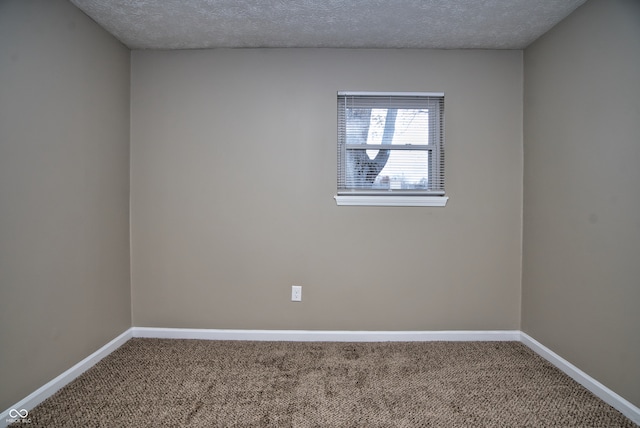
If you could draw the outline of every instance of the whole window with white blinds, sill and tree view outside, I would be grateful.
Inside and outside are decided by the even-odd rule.
[[[335,199],[444,206],[444,94],[338,92]]]

